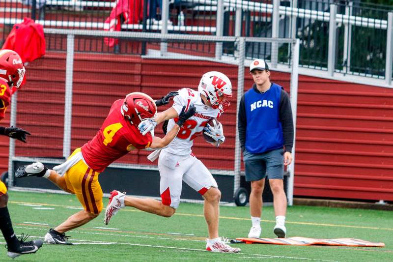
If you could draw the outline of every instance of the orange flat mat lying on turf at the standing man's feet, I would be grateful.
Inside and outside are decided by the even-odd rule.
[[[382,242],[369,242],[356,238],[336,238],[336,239],[323,239],[323,238],[309,238],[302,236],[294,236],[288,238],[246,238],[238,237],[236,240],[246,244],[276,244],[276,245],[296,245],[296,246],[309,246],[309,245],[329,245],[329,246],[351,246],[351,247],[384,247],[385,243]],[[238,242],[239,243],[239,242]]]

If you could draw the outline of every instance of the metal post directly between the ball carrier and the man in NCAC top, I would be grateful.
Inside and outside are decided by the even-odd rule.
[[[240,100],[243,96],[244,90],[244,57],[245,57],[245,50],[246,50],[246,41],[244,37],[239,38],[238,42],[238,52],[239,58],[238,60],[238,69],[237,69],[237,102],[236,102],[236,132],[235,132],[235,177],[233,181],[233,195],[235,194],[236,190],[240,187],[240,166],[241,166],[241,148],[240,148],[240,141],[239,141],[239,130],[238,124],[239,119],[237,115],[239,114],[239,107],[240,107]]]

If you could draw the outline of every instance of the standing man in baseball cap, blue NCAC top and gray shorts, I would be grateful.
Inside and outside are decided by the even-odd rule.
[[[246,181],[251,181],[248,237],[260,237],[262,193],[265,177],[273,193],[276,226],[273,231],[285,237],[286,195],[284,166],[292,161],[293,119],[289,96],[284,88],[270,82],[271,72],[263,59],[250,64],[254,84],[244,93],[239,109],[239,139],[243,151]]]

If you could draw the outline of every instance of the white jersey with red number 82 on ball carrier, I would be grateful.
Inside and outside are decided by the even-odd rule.
[[[173,139],[169,146],[163,150],[175,155],[191,154],[193,141],[197,136],[202,134],[206,123],[210,120],[210,118],[217,118],[223,113],[221,107],[213,109],[210,106],[206,106],[202,102],[202,98],[198,91],[190,88],[180,89],[179,94],[173,98],[172,107],[178,114],[180,114],[183,106],[186,106],[186,110],[188,110],[191,105],[194,105],[197,109],[194,116],[191,116],[184,122],[177,136]],[[175,120],[177,119],[169,120],[167,130],[173,128]]]

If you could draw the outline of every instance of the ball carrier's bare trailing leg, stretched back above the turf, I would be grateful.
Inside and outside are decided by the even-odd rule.
[[[163,217],[171,217],[176,212],[176,209],[173,207],[149,198],[133,198],[126,196],[124,198],[124,204]]]

